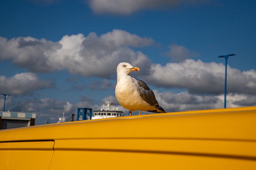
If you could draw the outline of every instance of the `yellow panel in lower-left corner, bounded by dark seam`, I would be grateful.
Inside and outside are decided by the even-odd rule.
[[[1,170],[47,170],[53,141],[0,143]]]

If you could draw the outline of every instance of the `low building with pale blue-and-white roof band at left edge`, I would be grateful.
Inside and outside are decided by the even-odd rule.
[[[0,129],[34,126],[35,118],[35,113],[0,111]]]

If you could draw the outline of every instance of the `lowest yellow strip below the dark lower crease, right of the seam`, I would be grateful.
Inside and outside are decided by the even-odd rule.
[[[58,163],[60,158],[67,160]],[[101,152],[55,152],[49,170],[56,169],[111,169],[111,170],[255,170],[255,161],[204,156]]]

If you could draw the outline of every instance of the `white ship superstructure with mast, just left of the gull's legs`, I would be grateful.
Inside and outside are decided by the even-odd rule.
[[[115,118],[123,116],[123,111],[119,111],[118,108],[110,109],[110,105],[112,105],[109,100],[102,105],[100,110],[93,111],[93,115],[91,119],[105,119],[105,118]]]

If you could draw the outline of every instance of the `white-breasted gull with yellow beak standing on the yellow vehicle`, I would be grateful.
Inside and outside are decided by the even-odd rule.
[[[139,71],[139,68],[125,62],[117,66],[115,95],[119,104],[129,110],[130,116],[135,110],[139,110],[138,115],[141,111],[166,113],[146,83],[129,75],[132,71]]]

